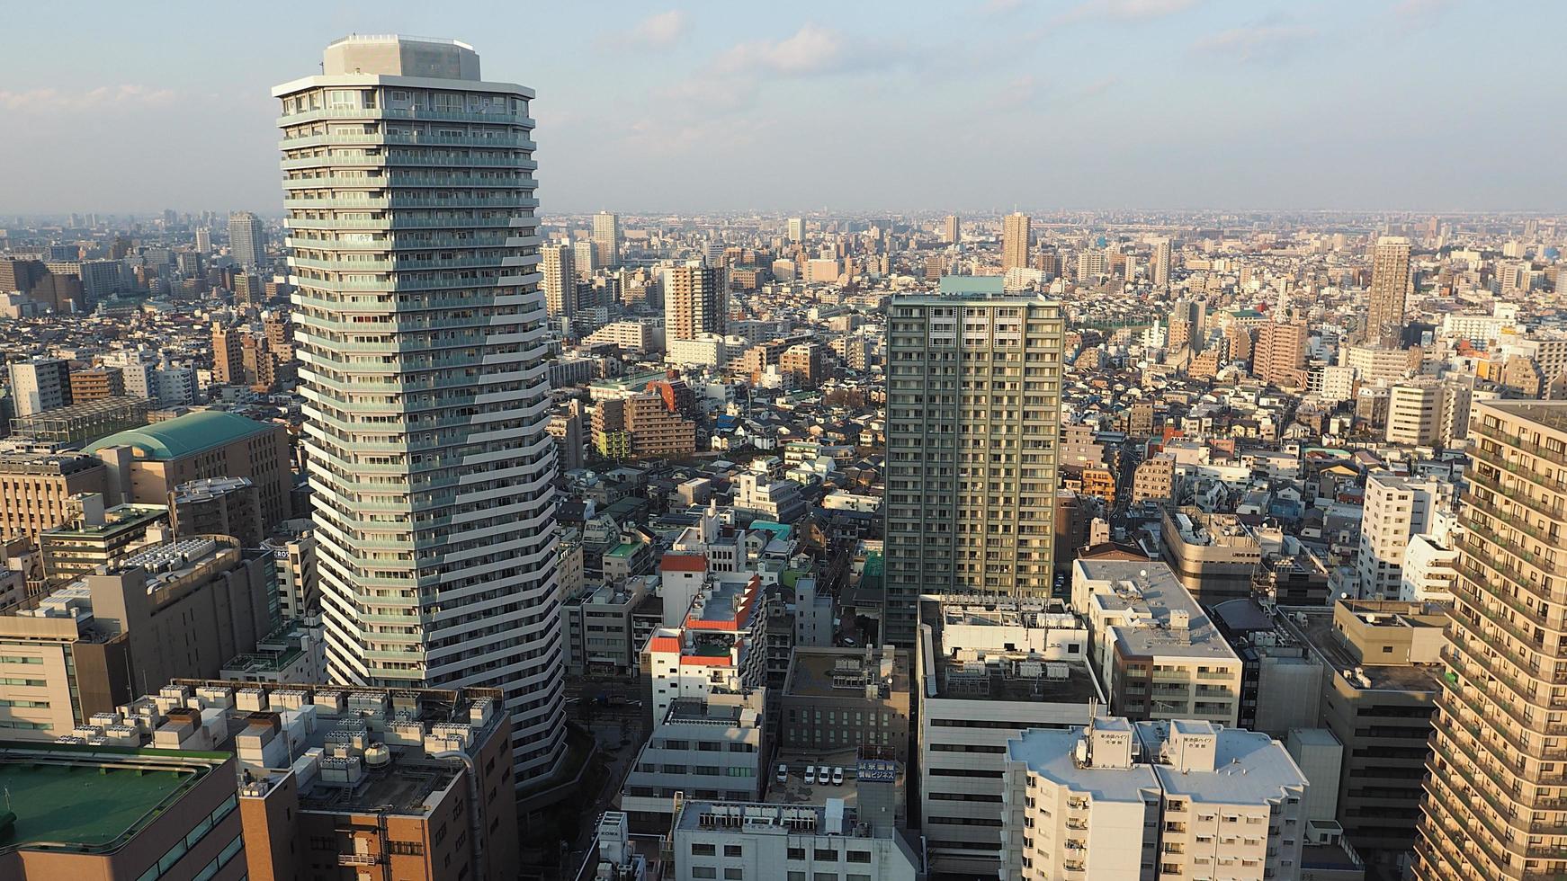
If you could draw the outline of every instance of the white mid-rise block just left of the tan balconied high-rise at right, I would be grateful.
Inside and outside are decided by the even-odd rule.
[[[1360,546],[1355,552],[1355,588],[1365,599],[1391,599],[1402,590],[1404,549],[1428,530],[1439,504],[1437,480],[1399,477],[1387,471],[1366,476]]]

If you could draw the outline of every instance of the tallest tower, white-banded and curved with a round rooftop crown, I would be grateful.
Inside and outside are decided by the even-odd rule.
[[[273,95],[329,674],[503,690],[534,784],[566,726],[533,91],[348,36]]]

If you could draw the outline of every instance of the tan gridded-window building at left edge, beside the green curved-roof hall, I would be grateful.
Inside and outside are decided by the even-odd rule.
[[[108,493],[108,469],[85,454],[0,455],[0,538],[27,538],[34,546],[45,529],[71,516],[71,499]]]

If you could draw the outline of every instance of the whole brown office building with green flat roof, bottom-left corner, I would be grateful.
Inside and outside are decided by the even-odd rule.
[[[0,742],[0,878],[240,881],[237,773],[227,753]]]

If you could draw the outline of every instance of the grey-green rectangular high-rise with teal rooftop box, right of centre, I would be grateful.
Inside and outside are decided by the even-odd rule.
[[[1064,318],[993,280],[888,310],[884,632],[898,645],[921,593],[1051,590]]]

